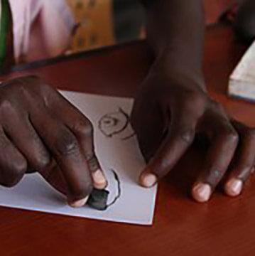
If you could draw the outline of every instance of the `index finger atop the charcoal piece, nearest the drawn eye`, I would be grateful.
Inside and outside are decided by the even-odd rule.
[[[61,95],[55,102],[55,104],[57,103],[58,107],[54,107],[55,114],[75,134],[91,171],[94,188],[104,189],[107,186],[107,179],[95,154],[91,122]]]

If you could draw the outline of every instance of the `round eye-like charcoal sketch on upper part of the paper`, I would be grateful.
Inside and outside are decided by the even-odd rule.
[[[124,134],[129,127],[129,114],[121,107],[116,112],[104,114],[98,122],[98,128],[105,137],[114,137],[119,134]],[[129,132],[121,137],[122,140],[133,137],[135,133]]]

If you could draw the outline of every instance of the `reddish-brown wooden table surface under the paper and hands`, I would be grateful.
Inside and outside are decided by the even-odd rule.
[[[229,73],[245,47],[234,42],[230,28],[210,28],[206,37],[210,94],[255,126],[255,105],[226,96]],[[21,66],[4,78],[36,74],[61,89],[133,96],[150,62],[145,43],[136,42]],[[188,184],[201,159],[191,149],[161,182],[151,227],[0,208],[0,255],[255,255],[255,180],[239,198],[217,191],[209,203],[195,203]]]

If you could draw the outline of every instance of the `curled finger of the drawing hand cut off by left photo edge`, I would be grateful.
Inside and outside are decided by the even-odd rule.
[[[6,137],[2,128],[0,128],[0,150],[0,184],[6,187],[14,186],[26,173],[27,162]]]

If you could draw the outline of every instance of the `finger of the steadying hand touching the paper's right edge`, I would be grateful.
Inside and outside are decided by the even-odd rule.
[[[142,186],[151,187],[158,181],[158,178],[168,174],[194,140],[197,118],[191,114],[187,115],[187,112],[173,114],[172,117],[173,121],[166,139],[163,140],[155,156],[141,173]]]

